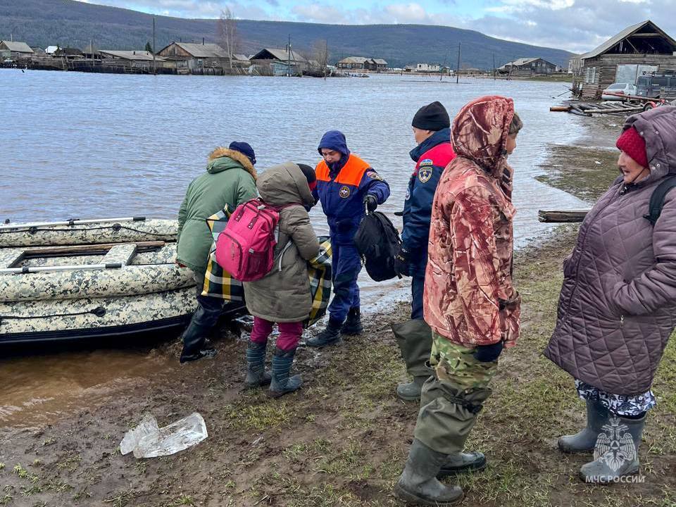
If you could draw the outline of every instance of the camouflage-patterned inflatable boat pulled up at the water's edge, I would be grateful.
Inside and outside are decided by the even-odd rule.
[[[176,234],[142,217],[0,225],[0,344],[183,326],[196,287]]]

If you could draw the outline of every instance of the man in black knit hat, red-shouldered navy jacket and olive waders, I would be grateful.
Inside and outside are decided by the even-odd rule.
[[[413,382],[396,388],[397,396],[406,401],[420,399],[420,389],[431,374],[425,361],[430,358],[432,331],[423,320],[427,237],[439,178],[456,156],[451,146],[449,113],[440,102],[418,109],[411,126],[418,146],[411,150],[415,168],[403,204],[401,249],[394,259],[396,272],[411,277],[411,320],[392,326],[408,374],[413,377]]]

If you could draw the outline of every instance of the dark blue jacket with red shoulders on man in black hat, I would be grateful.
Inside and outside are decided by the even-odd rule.
[[[455,157],[448,128],[434,132],[411,150],[411,158],[416,164],[408,181],[401,233],[402,246],[411,253],[411,276],[425,276],[434,192],[446,165]]]

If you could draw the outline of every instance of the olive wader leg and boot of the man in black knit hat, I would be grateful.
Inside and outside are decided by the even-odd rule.
[[[413,382],[397,386],[396,396],[404,401],[418,401],[425,380],[434,375],[426,364],[432,351],[432,330],[425,320],[411,319],[392,325],[392,332],[406,362],[408,375],[413,377]]]

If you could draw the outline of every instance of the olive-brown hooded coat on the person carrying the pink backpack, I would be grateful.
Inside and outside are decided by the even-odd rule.
[[[312,206],[315,199],[308,180],[292,162],[266,169],[256,186],[263,201],[287,207],[280,211],[273,270],[261,280],[244,282],[246,308],[251,315],[271,322],[301,322],[312,309],[307,261],[319,253],[319,241],[303,205]]]

